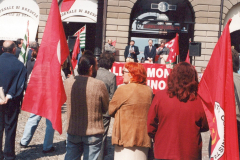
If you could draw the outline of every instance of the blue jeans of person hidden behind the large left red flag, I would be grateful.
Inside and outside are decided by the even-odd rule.
[[[21,139],[22,145],[28,145],[31,142],[34,132],[36,131],[41,118],[42,118],[41,116],[31,113],[31,115],[28,118],[28,121],[26,123],[23,137]],[[46,133],[45,133],[45,138],[44,138],[44,143],[43,143],[44,151],[48,151],[52,148],[53,136],[54,136],[54,129],[52,128],[51,121],[46,119],[46,125],[47,125],[47,128],[46,128]]]

